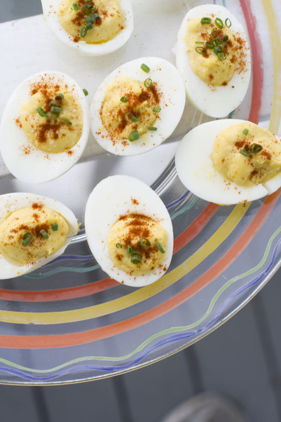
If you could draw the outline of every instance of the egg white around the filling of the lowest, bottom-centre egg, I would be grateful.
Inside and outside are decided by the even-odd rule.
[[[108,252],[108,236],[120,216],[145,215],[159,222],[168,234],[166,254],[161,268],[145,275],[120,271]],[[111,176],[96,185],[89,196],[85,212],[85,229],[89,247],[96,261],[110,277],[120,283],[140,287],[158,280],[168,269],[173,253],[173,227],[169,213],[158,195],[142,181],[129,176]],[[123,249],[117,252],[126,254]]]

